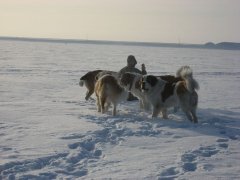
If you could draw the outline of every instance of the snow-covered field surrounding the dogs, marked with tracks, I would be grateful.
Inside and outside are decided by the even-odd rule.
[[[154,75],[191,66],[198,124],[85,101],[79,78],[130,54]],[[2,40],[0,93],[0,179],[240,179],[240,51]]]

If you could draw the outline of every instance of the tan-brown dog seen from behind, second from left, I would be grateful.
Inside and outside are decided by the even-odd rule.
[[[105,113],[110,104],[113,105],[112,115],[116,115],[117,105],[127,99],[128,92],[124,90],[117,79],[109,74],[100,77],[95,85],[98,112]]]

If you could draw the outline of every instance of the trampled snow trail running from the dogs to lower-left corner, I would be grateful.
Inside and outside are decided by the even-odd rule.
[[[83,118],[83,117],[82,117]],[[160,136],[169,135],[165,131],[159,130],[151,122],[143,119],[137,120],[129,117],[111,116],[85,116],[86,120],[97,123],[102,129],[89,131],[85,134],[66,134],[60,139],[66,142],[67,150],[64,153],[17,161],[0,166],[0,173],[3,178],[23,178],[23,179],[51,179],[56,177],[81,177],[88,174],[88,164],[104,157],[103,148],[107,144],[118,145],[130,136]],[[126,124],[127,123],[127,124]],[[134,128],[131,128],[134,127]],[[137,128],[136,128],[137,127]],[[8,150],[3,148],[3,150]],[[37,173],[39,170],[44,173]],[[38,175],[28,172],[35,171]]]

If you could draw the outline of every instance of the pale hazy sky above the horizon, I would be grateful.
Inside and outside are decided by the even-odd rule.
[[[0,36],[240,42],[240,0],[0,0]]]

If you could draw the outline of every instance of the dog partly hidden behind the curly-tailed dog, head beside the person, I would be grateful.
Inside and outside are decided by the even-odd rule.
[[[146,94],[142,92],[141,89],[141,79],[143,75],[138,73],[124,73],[120,77],[120,85],[125,88],[126,91],[131,92],[134,96],[136,96],[140,101],[140,108],[144,110],[150,110],[151,104],[148,102]],[[172,75],[163,75],[156,76],[168,83],[177,83],[178,81],[182,81],[181,77],[175,77]],[[166,92],[168,93],[168,92]]]

